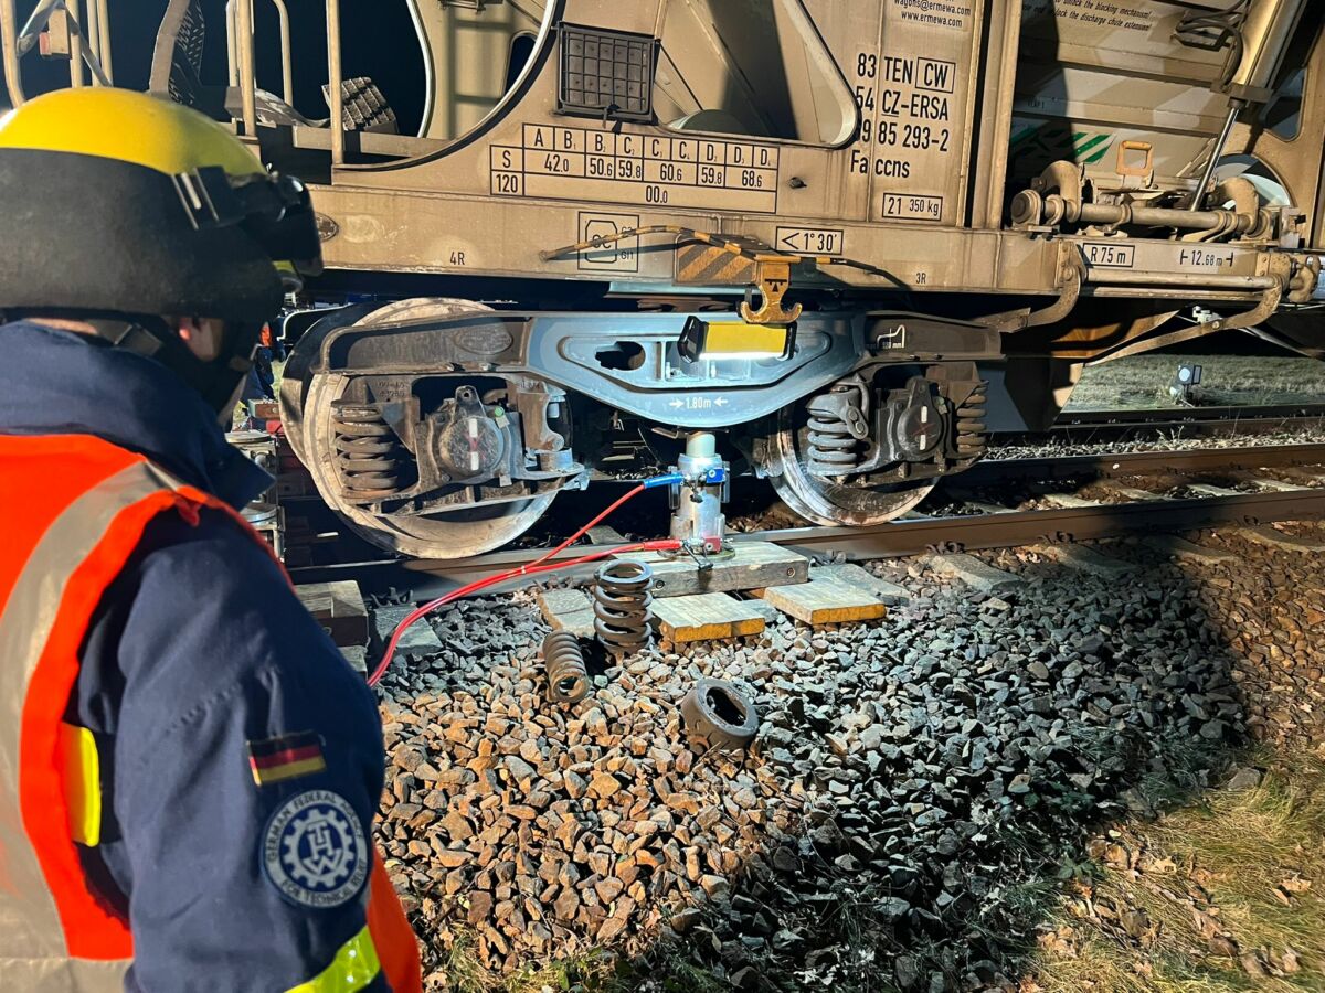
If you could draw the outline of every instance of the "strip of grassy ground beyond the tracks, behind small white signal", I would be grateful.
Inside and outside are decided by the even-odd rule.
[[[1178,365],[1202,367],[1196,405],[1297,404],[1325,400],[1325,363],[1243,355],[1137,355],[1086,367],[1068,410],[1171,406]]]

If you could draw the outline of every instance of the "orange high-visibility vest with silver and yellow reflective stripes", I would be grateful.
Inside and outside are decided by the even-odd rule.
[[[148,522],[223,500],[143,455],[83,434],[0,434],[0,976],[7,993],[119,993],[132,963],[129,922],[89,886],[80,846],[101,829],[97,744],[65,723],[102,594]],[[384,972],[421,989],[419,949],[374,858],[367,925],[292,993],[352,993]],[[182,977],[183,978],[183,977]]]

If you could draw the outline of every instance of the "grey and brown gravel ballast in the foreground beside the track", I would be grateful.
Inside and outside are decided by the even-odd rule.
[[[877,624],[661,645],[570,707],[527,593],[457,605],[383,685],[380,839],[427,988],[457,943],[493,984],[607,948],[645,989],[690,989],[680,960],[737,989],[1015,988],[1092,826],[1207,788],[1248,736],[1325,739],[1313,557],[1202,542],[1239,557],[1114,543],[1118,581],[986,553],[1024,580],[1000,596],[872,563],[913,596]],[[754,696],[747,755],[686,743],[701,675]]]

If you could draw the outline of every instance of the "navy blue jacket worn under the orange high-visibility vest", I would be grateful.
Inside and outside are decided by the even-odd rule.
[[[23,322],[0,326],[0,355],[3,433],[95,434],[236,508],[269,483],[201,399],[150,359]],[[196,526],[166,515],[148,527],[98,609],[69,718],[110,759],[109,824],[87,865],[129,914],[127,989],[286,990],[364,927],[363,873],[344,842],[356,834],[371,858],[383,782],[375,700],[233,520],[204,510]],[[314,741],[325,771],[258,785],[250,752],[286,735],[303,755]],[[292,801],[307,790],[334,794],[315,805],[335,821],[330,833],[301,834],[309,822]],[[356,822],[335,817],[346,802]],[[268,841],[307,854],[327,838],[329,862],[264,851]],[[307,866],[330,869],[319,878]],[[364,989],[387,985],[379,974]]]

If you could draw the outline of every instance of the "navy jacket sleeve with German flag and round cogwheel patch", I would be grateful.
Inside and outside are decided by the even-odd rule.
[[[220,514],[146,555],[136,587],[113,786],[129,989],[390,989],[401,948],[367,925],[370,891],[403,925],[380,866],[368,886],[383,782],[371,691]],[[417,968],[412,936],[408,955]]]

